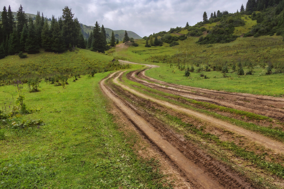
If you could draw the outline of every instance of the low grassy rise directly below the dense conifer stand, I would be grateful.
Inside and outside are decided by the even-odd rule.
[[[48,75],[64,69],[83,73],[88,69],[106,67],[112,59],[111,56],[86,49],[64,53],[41,51],[38,54],[28,54],[28,58],[24,59],[20,59],[17,55],[7,56],[0,59],[0,80]]]

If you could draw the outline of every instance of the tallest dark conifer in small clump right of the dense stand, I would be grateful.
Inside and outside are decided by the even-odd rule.
[[[101,34],[101,28],[100,25],[98,23],[98,21],[95,24],[95,27],[93,29],[93,41],[92,41],[92,45],[91,45],[91,50],[92,51],[98,51],[98,52],[105,52],[105,45],[104,45],[104,41],[102,38],[102,34]]]

